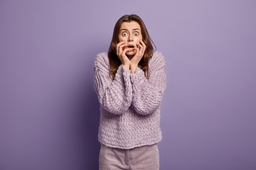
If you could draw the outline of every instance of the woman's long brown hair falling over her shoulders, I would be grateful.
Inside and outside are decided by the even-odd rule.
[[[146,45],[146,50],[144,52],[143,57],[139,61],[138,65],[144,71],[146,78],[149,79],[150,71],[149,71],[149,67],[148,67],[148,62],[149,62],[150,58],[153,56],[153,46],[152,46],[153,41],[151,40],[151,38],[148,34],[148,31],[146,29],[144,22],[141,20],[141,18],[138,15],[135,15],[135,14],[124,15],[121,18],[119,18],[119,20],[115,24],[112,41],[111,41],[111,44],[110,44],[110,47],[108,50],[108,59],[109,59],[109,63],[110,63],[109,75],[110,75],[110,77],[112,77],[112,79],[115,79],[115,74],[117,73],[117,69],[122,64],[119,57],[117,56],[116,48],[115,48],[115,46],[118,43],[119,29],[123,22],[132,22],[132,21],[138,22],[138,24],[141,27],[142,39]],[[150,40],[152,41],[152,43]],[[154,44],[154,46],[155,46],[155,44]],[[155,46],[155,48],[156,48],[156,46]]]

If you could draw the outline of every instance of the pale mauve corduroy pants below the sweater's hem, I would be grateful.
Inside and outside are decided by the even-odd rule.
[[[99,170],[159,170],[158,146],[121,149],[101,144]]]

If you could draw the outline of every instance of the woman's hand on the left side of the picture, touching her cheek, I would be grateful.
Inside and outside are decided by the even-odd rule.
[[[126,68],[127,70],[130,69],[130,60],[128,59],[128,57],[126,56],[126,51],[131,51],[131,49],[124,49],[124,46],[127,46],[128,44],[124,44],[124,41],[119,42],[116,45],[116,51],[117,51],[117,56],[119,57],[119,59],[121,60],[121,63],[123,64],[124,68]]]

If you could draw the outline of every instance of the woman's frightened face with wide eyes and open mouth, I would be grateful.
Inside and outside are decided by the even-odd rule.
[[[124,41],[124,44],[132,45],[133,47],[139,48],[136,43],[140,43],[139,40],[142,40],[141,28],[139,23],[136,21],[123,22],[121,24],[118,42]],[[123,50],[129,48],[128,46],[123,47]],[[127,51],[127,55],[135,55],[136,50]]]

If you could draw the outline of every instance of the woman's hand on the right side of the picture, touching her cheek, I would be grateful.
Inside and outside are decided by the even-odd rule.
[[[141,60],[141,58],[144,55],[144,52],[146,50],[146,45],[145,43],[140,40],[139,41],[141,44],[136,43],[139,48],[134,47],[133,50],[136,50],[135,55],[132,57],[132,59],[130,60],[130,69],[131,69],[131,73],[135,73],[136,68],[138,67],[139,61]]]

